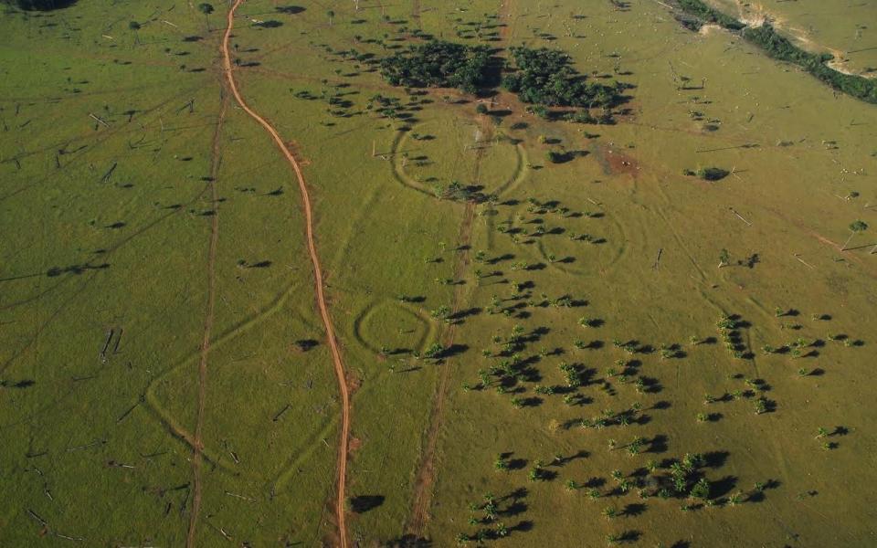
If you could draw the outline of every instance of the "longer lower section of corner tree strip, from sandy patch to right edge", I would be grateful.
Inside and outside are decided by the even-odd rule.
[[[828,53],[815,54],[795,46],[786,37],[781,37],[773,26],[748,27],[743,36],[753,44],[763,47],[772,58],[794,63],[810,74],[856,99],[877,103],[877,80],[852,74],[843,74],[825,64],[832,56]]]

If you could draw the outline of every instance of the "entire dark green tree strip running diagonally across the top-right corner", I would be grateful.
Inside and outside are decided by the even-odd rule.
[[[830,53],[810,53],[792,44],[787,37],[780,36],[769,23],[761,26],[748,26],[732,16],[713,9],[702,0],[677,0],[682,11],[697,20],[679,18],[682,25],[696,30],[703,22],[714,23],[738,33],[746,41],[764,49],[771,58],[786,61],[807,70],[812,76],[822,80],[833,89],[851,97],[877,104],[877,80],[856,74],[844,74],[830,68],[826,63],[834,58]]]

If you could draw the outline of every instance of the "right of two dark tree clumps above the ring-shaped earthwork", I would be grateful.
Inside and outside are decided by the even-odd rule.
[[[526,103],[545,107],[604,107],[621,99],[625,84],[587,83],[585,77],[570,67],[563,51],[542,47],[512,47],[512,71],[502,79],[502,86]]]

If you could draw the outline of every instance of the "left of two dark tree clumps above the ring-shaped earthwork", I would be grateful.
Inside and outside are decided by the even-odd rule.
[[[381,60],[381,75],[394,86],[458,88],[475,93],[488,80],[490,49],[433,40]]]

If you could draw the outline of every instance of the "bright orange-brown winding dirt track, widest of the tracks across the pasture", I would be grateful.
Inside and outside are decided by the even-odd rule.
[[[313,264],[314,285],[317,293],[317,307],[320,309],[322,324],[326,330],[326,338],[329,342],[329,348],[332,350],[332,360],[335,366],[335,374],[338,377],[338,391],[341,393],[341,439],[338,446],[338,497],[335,501],[335,514],[338,520],[338,536],[339,545],[347,548],[347,526],[344,522],[344,482],[347,476],[347,448],[350,437],[350,394],[347,389],[347,382],[344,374],[344,364],[341,359],[341,351],[338,348],[338,342],[335,340],[335,332],[332,326],[332,318],[329,316],[329,308],[326,306],[326,299],[322,290],[322,269],[320,268],[320,259],[317,257],[317,247],[313,241],[313,214],[311,209],[311,195],[308,193],[308,185],[304,181],[304,175],[301,173],[301,166],[296,161],[295,156],[291,153],[290,148],[283,142],[280,133],[274,129],[269,121],[259,116],[253,111],[247,101],[244,100],[238,90],[238,82],[235,80],[234,69],[232,68],[231,54],[228,51],[228,42],[231,38],[232,31],[235,26],[235,12],[238,7],[244,3],[244,0],[235,0],[235,4],[228,10],[226,34],[222,38],[222,60],[223,68],[226,73],[228,89],[235,100],[238,101],[240,108],[255,121],[259,122],[266,132],[277,143],[280,152],[286,157],[292,166],[295,176],[299,181],[299,190],[301,191],[301,202],[304,205],[305,227],[308,240],[308,254],[311,256]]]

